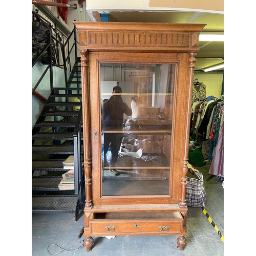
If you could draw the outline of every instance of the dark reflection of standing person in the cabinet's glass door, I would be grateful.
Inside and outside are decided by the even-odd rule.
[[[103,101],[103,130],[121,131],[123,127],[123,114],[132,115],[132,110],[122,99],[122,89],[119,86],[113,87],[112,95]],[[114,168],[116,166],[118,152],[122,142],[122,133],[104,132],[104,157],[111,148],[110,172],[113,175],[120,175]]]

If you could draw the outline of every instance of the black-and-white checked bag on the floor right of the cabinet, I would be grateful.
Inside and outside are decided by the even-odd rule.
[[[188,168],[186,185],[186,204],[190,207],[204,207],[206,193],[203,174]]]

